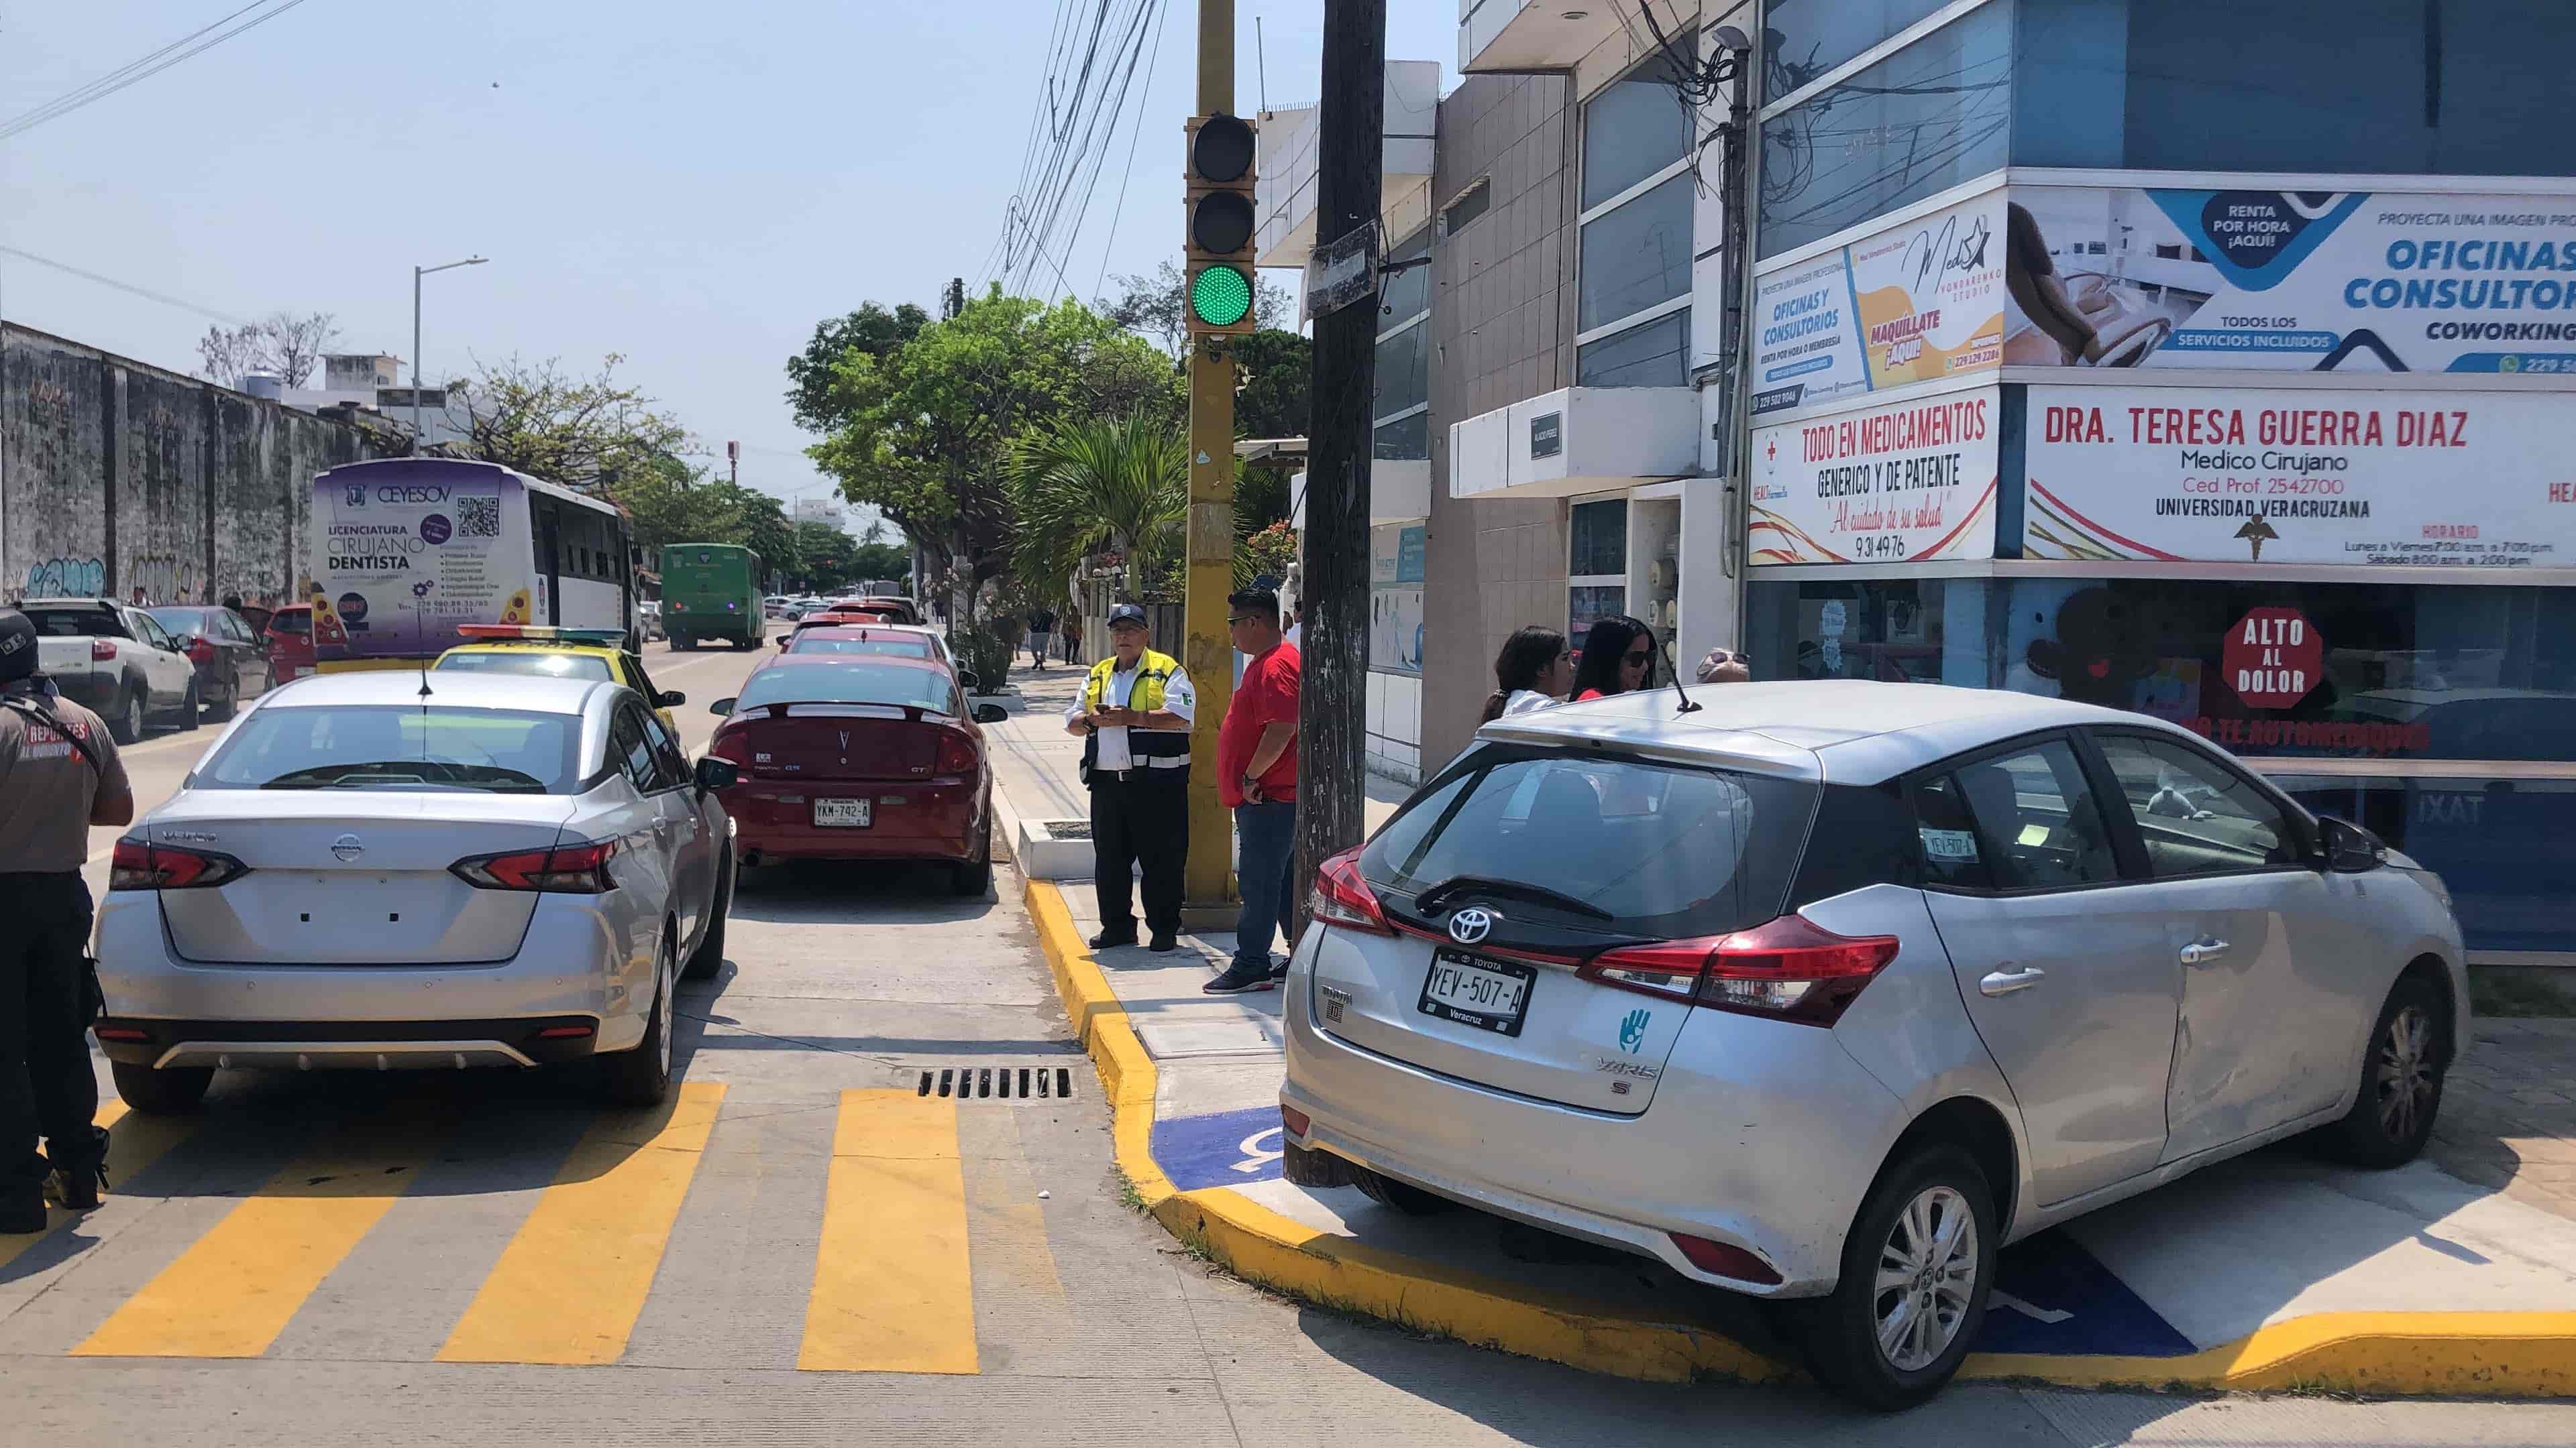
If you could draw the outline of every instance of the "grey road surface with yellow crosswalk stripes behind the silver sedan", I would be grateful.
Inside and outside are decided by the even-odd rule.
[[[703,747],[750,654],[652,654]],[[129,750],[139,801],[211,737]],[[1878,1420],[1267,1299],[1123,1206],[1018,879],[938,884],[744,876],[662,1110],[551,1074],[322,1072],[118,1121],[106,1208],[0,1237],[0,1445],[2576,1440],[2561,1404],[2009,1386]]]

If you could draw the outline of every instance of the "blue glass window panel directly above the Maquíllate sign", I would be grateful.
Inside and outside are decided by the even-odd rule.
[[[1762,121],[1757,255],[1832,237],[2004,165],[2012,5],[1996,0]]]

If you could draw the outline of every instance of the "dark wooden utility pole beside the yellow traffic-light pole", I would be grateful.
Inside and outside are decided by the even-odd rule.
[[[1386,157],[1386,0],[1324,0],[1324,100],[1316,126],[1316,250],[1373,232]],[[1368,265],[1376,250],[1368,242]],[[1306,438],[1306,624],[1298,703],[1296,879],[1368,832],[1368,459],[1378,394],[1370,296],[1314,319],[1314,420]],[[1296,891],[1303,920],[1306,891]]]

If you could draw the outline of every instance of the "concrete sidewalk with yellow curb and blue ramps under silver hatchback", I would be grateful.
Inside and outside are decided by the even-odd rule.
[[[1002,783],[1012,801],[1072,817],[1061,812],[1079,799],[1079,742],[1056,716],[1074,685],[1020,685],[1030,714],[992,729],[1005,739]],[[1234,938],[1185,935],[1175,956],[1090,953],[1087,886],[1033,881],[1028,894],[1066,1010],[1118,1103],[1123,1170],[1167,1226],[1236,1273],[1620,1376],[1790,1373],[1744,1299],[1659,1262],[1484,1214],[1409,1219],[1350,1188],[1280,1180],[1280,995],[1200,992]],[[2527,1023],[2501,1025],[2481,1025],[2481,1038],[2522,1043]],[[2543,1051],[2561,1041],[2530,1036]],[[2514,1100],[2473,1069],[2458,1082],[2470,1110],[2445,1116],[2437,1159],[2512,1162],[2512,1177],[2566,1152],[2563,1136],[2532,1131],[2550,1103]],[[2349,1172],[2277,1147],[2020,1242],[1965,1376],[2576,1394],[2576,1221],[2550,1211],[2548,1193],[2460,1180],[2437,1159]]]

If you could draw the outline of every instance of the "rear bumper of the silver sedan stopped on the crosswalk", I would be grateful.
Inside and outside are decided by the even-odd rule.
[[[98,984],[111,1028],[144,1041],[100,1041],[108,1059],[322,1069],[348,1064],[541,1064],[623,1051],[644,1038],[657,930],[611,917],[621,894],[538,897],[518,953],[492,964],[340,966],[211,964],[170,948],[160,897],[108,891],[98,904]],[[549,1025],[590,1025],[590,1038],[531,1049]],[[185,1056],[170,1056],[185,1046]],[[307,1059],[309,1056],[309,1059]],[[394,1062],[399,1059],[399,1062]]]

